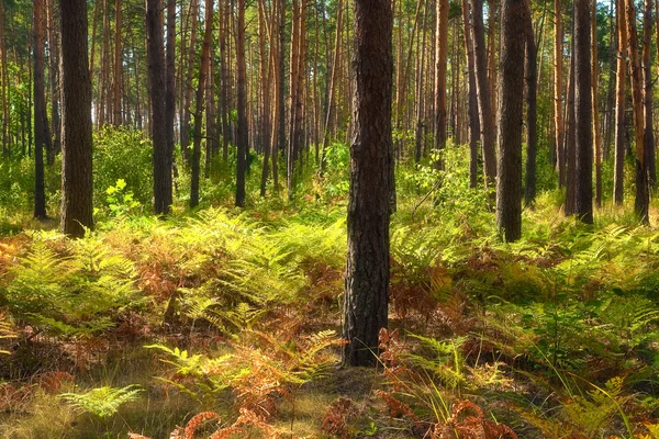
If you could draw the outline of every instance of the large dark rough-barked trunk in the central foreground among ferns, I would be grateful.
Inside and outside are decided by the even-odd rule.
[[[355,1],[355,105],[350,147],[344,364],[377,363],[389,300],[393,18],[389,0]]]

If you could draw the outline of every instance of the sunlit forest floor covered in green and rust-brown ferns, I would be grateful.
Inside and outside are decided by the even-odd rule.
[[[611,206],[581,225],[545,194],[505,244],[487,209],[422,195],[392,221],[373,369],[337,365],[345,206],[20,225],[0,437],[659,437],[657,228]]]

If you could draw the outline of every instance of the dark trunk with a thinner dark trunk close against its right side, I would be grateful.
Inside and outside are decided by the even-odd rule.
[[[167,214],[171,204],[171,154],[167,145],[163,0],[146,0],[146,36],[154,144],[154,212]]]

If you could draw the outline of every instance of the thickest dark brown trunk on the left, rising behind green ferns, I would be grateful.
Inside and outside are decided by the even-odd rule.
[[[62,233],[92,228],[91,80],[87,1],[60,0],[62,11]]]

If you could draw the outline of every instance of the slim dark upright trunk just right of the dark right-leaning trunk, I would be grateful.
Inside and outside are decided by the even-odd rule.
[[[236,34],[236,64],[238,91],[238,138],[236,160],[236,206],[245,206],[245,172],[247,165],[247,61],[245,59],[245,0],[238,0],[238,32]]]

